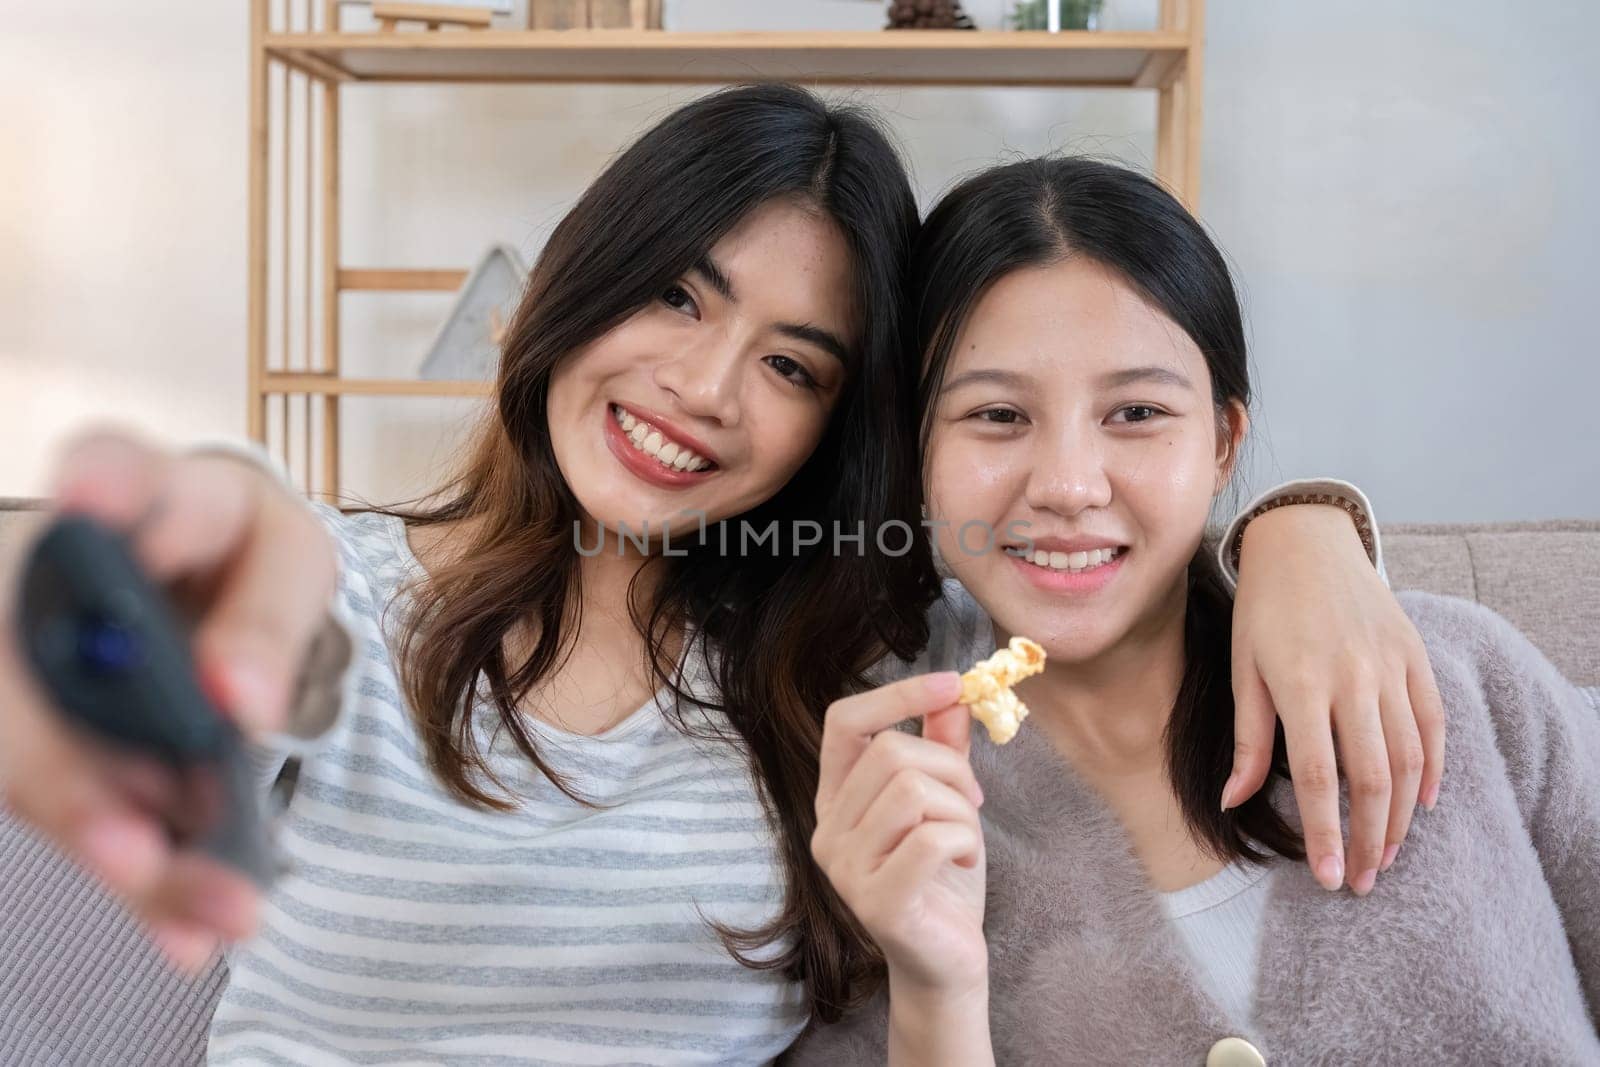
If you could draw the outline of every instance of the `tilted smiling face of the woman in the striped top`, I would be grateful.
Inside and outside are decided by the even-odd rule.
[[[555,461],[584,514],[691,530],[776,494],[846,381],[851,259],[798,200],[746,216],[650,306],[550,378]]]

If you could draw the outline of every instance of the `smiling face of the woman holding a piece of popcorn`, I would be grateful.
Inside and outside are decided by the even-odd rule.
[[[1016,270],[973,309],[933,403],[939,552],[1005,633],[1067,664],[1181,624],[1246,419],[1237,403],[1219,418],[1178,325],[1085,256]],[[994,550],[974,555],[976,526],[963,545],[973,522]]]

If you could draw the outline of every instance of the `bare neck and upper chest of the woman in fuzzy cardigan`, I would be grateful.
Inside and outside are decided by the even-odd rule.
[[[1094,779],[1166,774],[1163,734],[1184,677],[1187,585],[1178,585],[1112,648],[1085,661],[1051,659],[1019,686],[1051,744]],[[1010,633],[995,627],[995,643]]]

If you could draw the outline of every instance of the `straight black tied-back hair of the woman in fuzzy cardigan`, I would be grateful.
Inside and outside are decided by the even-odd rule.
[[[930,411],[955,338],[995,282],[1022,267],[1086,256],[1122,275],[1205,357],[1218,414],[1250,406],[1238,296],[1222,253],[1165,189],[1115,163],[1082,157],[997,166],[946,195],[923,224],[912,267],[915,336],[923,354],[918,405]],[[922,430],[926,450],[930,427]],[[1218,859],[1304,859],[1301,837],[1259,790],[1221,811],[1234,765],[1232,614],[1210,544],[1189,563],[1184,677],[1168,720],[1166,769],[1195,840]],[[1288,776],[1283,731],[1272,774]]]

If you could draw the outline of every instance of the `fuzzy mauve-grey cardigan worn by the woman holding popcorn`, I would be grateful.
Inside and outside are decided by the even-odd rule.
[[[1126,833],[1038,731],[974,741],[1000,1064],[1600,1064],[1600,717],[1504,619],[1403,593],[1448,717],[1437,808],[1371,896],[1278,864],[1248,1027],[1227,1022]],[[1299,825],[1286,782],[1272,800]],[[1344,805],[1347,811],[1347,803]],[[880,995],[784,1062],[882,1064]]]

